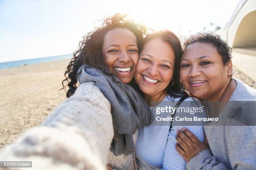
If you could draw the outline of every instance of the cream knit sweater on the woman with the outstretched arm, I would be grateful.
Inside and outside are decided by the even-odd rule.
[[[134,155],[116,157],[109,152],[113,135],[110,103],[93,82],[87,82],[41,125],[3,148],[0,160],[32,161],[29,170],[105,170],[107,164],[134,170]]]

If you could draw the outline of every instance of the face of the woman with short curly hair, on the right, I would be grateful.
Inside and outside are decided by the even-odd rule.
[[[231,72],[231,62],[223,64],[221,55],[210,44],[195,42],[188,45],[182,55],[182,84],[192,95],[203,100],[213,100],[223,93]]]

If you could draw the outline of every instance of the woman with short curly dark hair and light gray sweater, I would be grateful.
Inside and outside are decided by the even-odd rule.
[[[231,52],[212,33],[184,42],[182,84],[191,95],[208,101],[210,116],[219,120],[204,126],[204,143],[186,128],[177,133],[176,149],[188,170],[256,169],[256,90],[232,77]]]

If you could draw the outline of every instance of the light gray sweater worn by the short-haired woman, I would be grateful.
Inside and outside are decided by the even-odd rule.
[[[255,89],[234,80],[236,89],[230,101],[256,101]],[[254,114],[255,117],[255,103],[243,106],[243,116]],[[211,125],[204,126],[204,130],[210,149],[189,160],[187,170],[256,170],[256,126]]]

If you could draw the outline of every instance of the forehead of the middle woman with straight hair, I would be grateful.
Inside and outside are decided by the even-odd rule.
[[[149,40],[146,42],[141,54],[151,55],[159,60],[174,60],[174,51],[171,45],[160,39]]]

